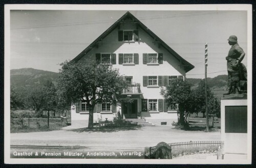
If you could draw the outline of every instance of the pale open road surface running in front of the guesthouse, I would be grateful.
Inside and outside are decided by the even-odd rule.
[[[184,131],[173,126],[129,128],[65,129],[48,132],[11,133],[11,145],[86,146],[93,150],[132,150],[156,146],[159,142],[220,141],[220,130]]]

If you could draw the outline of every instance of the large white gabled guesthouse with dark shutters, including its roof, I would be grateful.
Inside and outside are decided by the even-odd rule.
[[[110,64],[134,84],[122,93],[123,99],[133,99],[133,103],[96,104],[94,121],[100,116],[112,120],[117,111],[126,119],[137,118],[138,114],[145,119],[176,119],[177,112],[172,106],[167,107],[160,95],[161,87],[167,86],[173,78],[185,79],[186,72],[194,68],[130,12],[74,58],[77,62],[88,60]],[[86,102],[81,101],[72,108],[72,122],[88,119]]]

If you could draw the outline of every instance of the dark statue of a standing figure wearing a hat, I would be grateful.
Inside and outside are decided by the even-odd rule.
[[[238,90],[238,93],[241,94],[241,80],[247,80],[247,69],[242,64],[244,59],[245,52],[238,45],[237,36],[230,36],[228,38],[228,44],[231,45],[231,48],[226,57],[227,60],[227,72],[228,72],[228,87],[227,92],[224,95],[231,94],[235,89]],[[243,84],[245,85],[245,84]],[[244,86],[242,86],[244,88]],[[244,90],[244,89],[243,89]]]

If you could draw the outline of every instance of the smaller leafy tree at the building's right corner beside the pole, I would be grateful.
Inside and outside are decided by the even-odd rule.
[[[190,90],[191,84],[182,79],[173,79],[166,89],[161,89],[161,95],[166,99],[167,105],[176,103],[178,124],[185,124],[189,113],[193,113],[194,102]]]

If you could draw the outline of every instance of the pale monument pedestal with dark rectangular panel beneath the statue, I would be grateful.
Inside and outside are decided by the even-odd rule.
[[[247,159],[247,94],[221,99],[222,159]]]

